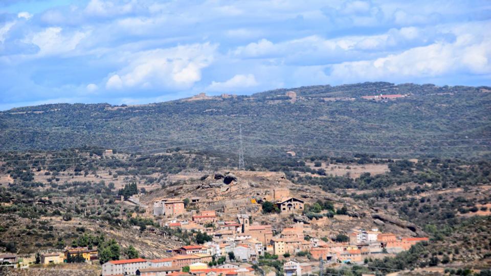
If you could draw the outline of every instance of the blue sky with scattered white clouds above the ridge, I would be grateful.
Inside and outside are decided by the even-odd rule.
[[[491,1],[1,0],[0,110],[491,85]]]

